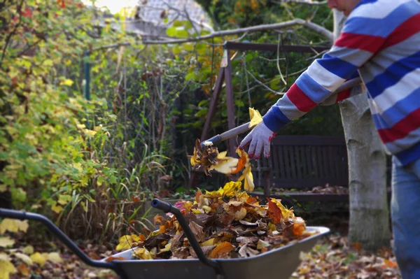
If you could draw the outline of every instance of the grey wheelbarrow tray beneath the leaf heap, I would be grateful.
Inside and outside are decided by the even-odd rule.
[[[224,278],[290,278],[300,264],[300,252],[309,252],[316,241],[321,236],[328,234],[330,229],[326,227],[307,227],[307,231],[318,231],[318,234],[253,257],[218,259],[217,261],[221,263],[225,273]],[[132,259],[132,249],[120,252],[113,257],[127,259],[113,260],[113,262],[125,271],[128,279],[216,278],[214,269],[203,264],[199,259],[138,260]]]

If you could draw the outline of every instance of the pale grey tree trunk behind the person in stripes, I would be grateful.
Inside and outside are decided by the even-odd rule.
[[[337,38],[345,17],[334,10]],[[353,90],[365,90],[361,87]],[[386,195],[386,155],[374,127],[367,95],[359,94],[339,104],[349,157],[349,241],[367,250],[389,245]]]

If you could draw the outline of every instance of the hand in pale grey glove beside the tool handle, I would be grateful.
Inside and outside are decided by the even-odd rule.
[[[264,156],[267,158],[269,157],[269,142],[274,136],[276,136],[276,133],[268,129],[264,121],[261,121],[241,141],[239,148],[244,149],[248,143],[251,143],[248,148],[248,157],[260,159],[261,150],[264,148]]]

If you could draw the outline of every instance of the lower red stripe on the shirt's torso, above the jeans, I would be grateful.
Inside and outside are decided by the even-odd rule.
[[[389,129],[378,129],[379,136],[384,143],[391,143],[405,138],[410,132],[420,127],[420,108],[407,115],[400,122]]]

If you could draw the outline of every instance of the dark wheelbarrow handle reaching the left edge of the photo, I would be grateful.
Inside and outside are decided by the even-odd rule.
[[[69,236],[66,236],[66,234],[64,234],[64,232],[62,232],[54,223],[52,223],[47,217],[41,214],[27,213],[25,211],[0,208],[0,217],[18,220],[34,220],[41,222],[46,227],[48,227],[52,234],[55,234],[55,236],[57,236],[59,240],[67,246],[67,248],[69,248],[88,266],[98,267],[102,269],[112,269],[113,271],[116,271],[118,276],[120,276],[121,278],[127,278],[127,276],[125,275],[125,271],[120,269],[120,266],[118,266],[117,264],[114,264],[113,262],[97,261],[88,257],[85,254],[85,252],[80,250],[80,248],[78,248],[78,246],[75,243],[73,243],[73,241],[71,241]]]

